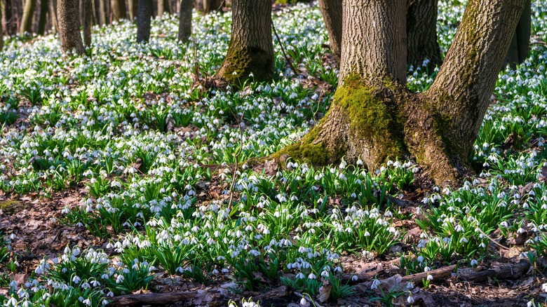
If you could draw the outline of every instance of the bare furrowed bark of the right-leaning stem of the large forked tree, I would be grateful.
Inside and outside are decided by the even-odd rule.
[[[527,0],[470,0],[437,78],[424,96],[447,151],[467,160]]]

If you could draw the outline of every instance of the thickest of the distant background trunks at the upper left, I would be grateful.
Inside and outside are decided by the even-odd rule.
[[[85,49],[81,42],[78,0],[58,0],[57,15],[62,52],[74,50],[82,55]]]

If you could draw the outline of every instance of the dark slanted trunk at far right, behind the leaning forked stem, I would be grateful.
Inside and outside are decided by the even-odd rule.
[[[532,30],[532,1],[528,0],[524,11],[520,15],[518,25],[511,46],[509,47],[507,57],[504,62],[511,65],[515,69],[517,64],[522,64],[528,57],[528,49],[530,45],[530,35]]]

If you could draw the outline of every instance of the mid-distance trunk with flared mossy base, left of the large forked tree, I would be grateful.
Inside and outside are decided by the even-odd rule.
[[[267,80],[274,74],[270,0],[232,2],[230,44],[214,79],[222,87],[247,79],[251,73],[255,80]]]

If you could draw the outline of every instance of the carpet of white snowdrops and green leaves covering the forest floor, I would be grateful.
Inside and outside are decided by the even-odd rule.
[[[53,35],[8,39],[0,53],[0,302],[100,306],[137,291],[229,285],[222,298],[201,298],[226,304],[285,285],[313,301],[327,296],[323,304],[439,304],[435,287],[443,289],[443,280],[426,275],[401,287],[380,280],[524,259],[532,269],[520,280],[486,285],[497,282],[516,297],[507,303],[539,306],[547,254],[547,3],[532,6],[529,59],[501,72],[471,157],[478,176],[459,189],[422,181],[412,161],[379,170],[344,161],[236,167],[295,142],[327,111],[337,69],[325,55],[315,6],[274,13],[299,76],[274,41],[274,81],[225,92],[204,92],[192,78],[196,69],[211,76],[220,66],[229,13],[194,14],[188,45],[176,41],[174,15],[153,21],[147,44],[135,43],[131,22],[95,27],[83,57],[63,57]],[[463,8],[440,2],[443,52]],[[425,64],[409,68],[412,90],[431,85],[436,71]],[[50,250],[33,250],[29,242],[43,227],[29,233],[20,217],[38,203],[50,204],[49,228],[87,240],[65,232],[70,238],[55,236]],[[368,279],[359,274],[365,268],[374,273]]]

